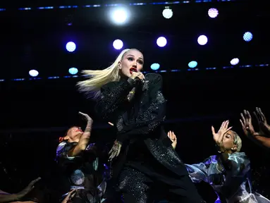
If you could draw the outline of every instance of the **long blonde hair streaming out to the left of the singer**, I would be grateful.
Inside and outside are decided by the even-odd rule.
[[[79,91],[84,92],[87,97],[97,99],[100,96],[100,89],[108,82],[119,81],[120,74],[118,62],[123,59],[126,52],[131,49],[124,49],[116,58],[116,61],[104,70],[82,70],[82,74],[88,79],[78,82]]]

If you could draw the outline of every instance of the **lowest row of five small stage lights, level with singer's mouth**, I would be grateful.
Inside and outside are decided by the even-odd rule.
[[[239,63],[239,59],[235,58],[231,60],[231,65],[235,66]],[[190,61],[190,63],[188,63],[188,67],[189,68],[196,68],[198,65],[197,61]],[[152,65],[150,66],[150,68],[152,70],[159,70],[160,68],[160,64],[159,63],[152,63]],[[70,75],[76,75],[78,73],[78,68],[69,68],[68,69],[68,73],[70,73]],[[39,72],[37,70],[30,70],[29,71],[29,75],[31,77],[37,77],[37,75],[39,75]]]

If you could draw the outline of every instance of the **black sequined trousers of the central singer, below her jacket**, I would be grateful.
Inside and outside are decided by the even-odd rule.
[[[197,195],[197,190],[195,192],[183,191],[183,188],[178,187],[176,184],[168,184],[170,180],[162,183],[134,168],[125,166],[118,180],[118,187],[123,194],[125,203],[152,203],[154,200],[159,199],[166,199],[170,203],[203,202],[200,195]],[[180,177],[180,181],[187,184],[191,183],[188,176]],[[173,179],[171,183],[177,183],[177,180]],[[193,189],[193,187],[191,188]]]

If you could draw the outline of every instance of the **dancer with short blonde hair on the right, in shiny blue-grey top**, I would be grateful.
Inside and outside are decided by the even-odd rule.
[[[193,183],[204,181],[213,187],[218,198],[216,203],[269,203],[257,192],[252,192],[250,160],[240,152],[242,141],[224,121],[218,133],[212,127],[219,155],[210,156],[200,164],[185,164]],[[175,135],[168,135],[173,142]],[[176,140],[176,139],[174,139]]]

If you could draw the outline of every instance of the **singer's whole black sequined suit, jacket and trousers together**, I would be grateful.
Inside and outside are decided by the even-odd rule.
[[[145,75],[143,85],[132,79],[102,87],[97,113],[114,123],[121,154],[113,163],[113,178],[125,203],[146,203],[166,198],[171,202],[202,202],[183,161],[162,128],[166,99],[161,75]],[[136,87],[130,101],[130,90]],[[160,191],[160,192],[159,192]],[[163,197],[157,197],[161,195]]]

